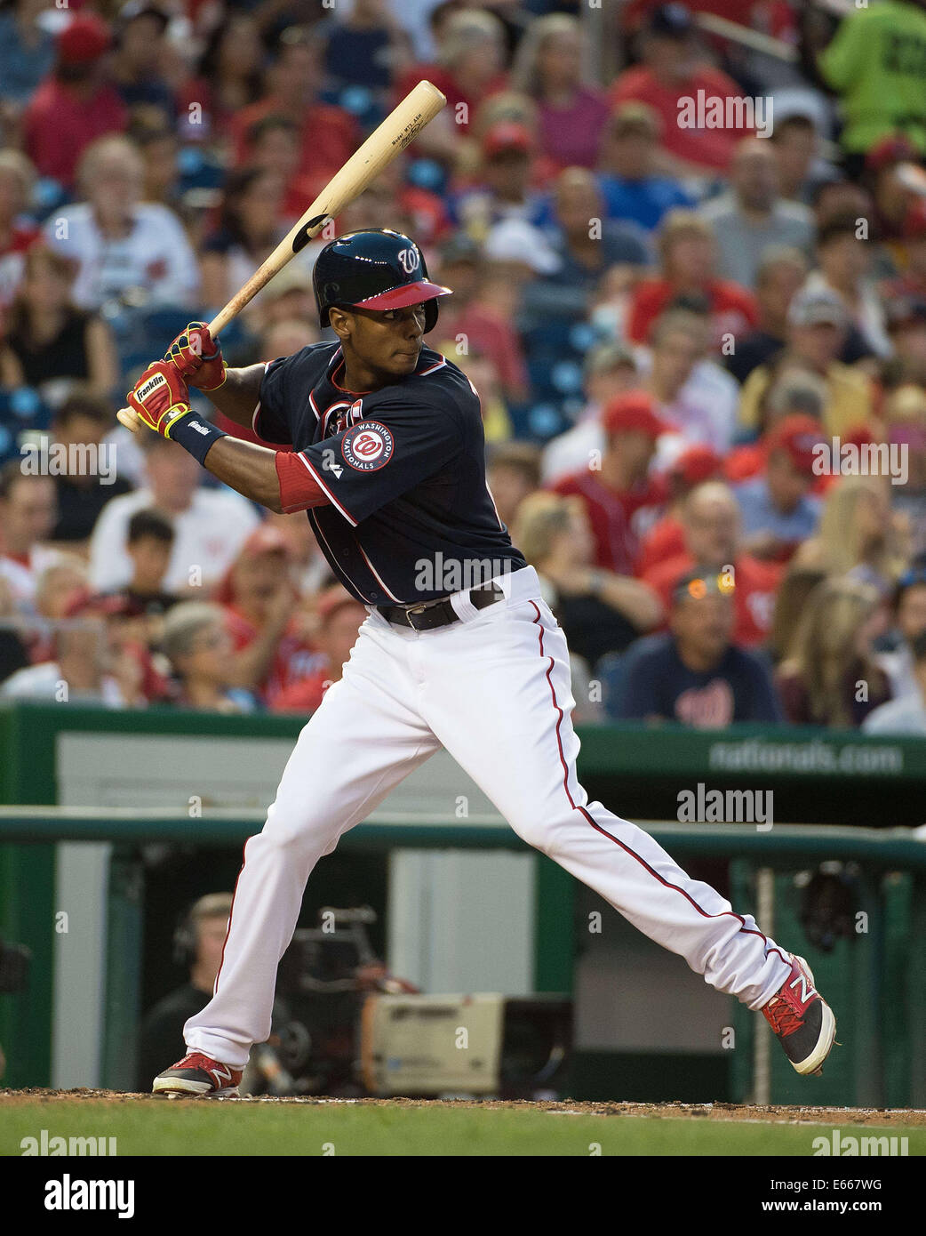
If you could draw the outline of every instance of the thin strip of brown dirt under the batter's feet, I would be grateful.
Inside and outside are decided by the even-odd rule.
[[[2,1090],[0,1106],[35,1103],[79,1103],[105,1100],[107,1103],[165,1103],[153,1094],[128,1094],[122,1090]],[[184,1101],[184,1100],[175,1100]],[[209,1100],[185,1100],[204,1103]],[[542,1103],[505,1101],[500,1099],[325,1099],[274,1098],[268,1095],[220,1099],[219,1103],[285,1103],[307,1106],[368,1106],[368,1107],[483,1107],[488,1111],[546,1111],[551,1115],[574,1116],[654,1116],[684,1120],[748,1120],[780,1124],[824,1125],[903,1125],[926,1127],[926,1110],[905,1107],[785,1107],[757,1106],[735,1103],[574,1103],[570,1099]]]

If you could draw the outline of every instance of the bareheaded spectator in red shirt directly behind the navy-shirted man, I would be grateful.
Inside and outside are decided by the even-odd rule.
[[[699,485],[682,510],[685,551],[643,571],[643,581],[668,608],[679,580],[695,566],[730,574],[735,583],[733,639],[743,648],[763,644],[772,625],[775,591],[782,566],[761,562],[742,552],[740,507],[728,486],[720,481]]]

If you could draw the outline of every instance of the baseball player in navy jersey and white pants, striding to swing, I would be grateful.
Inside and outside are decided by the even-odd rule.
[[[326,245],[314,284],[337,342],[232,370],[191,323],[130,394],[220,481],[270,510],[306,510],[367,609],[244,845],[215,991],[184,1027],[188,1054],[153,1089],[236,1093],[252,1043],[270,1032],[277,967],[315,864],[441,747],[520,837],[761,1009],[794,1068],[819,1072],[836,1022],[807,964],[579,784],[565,639],[485,483],[479,396],[425,344],[451,289],[389,230]],[[189,384],[278,449],[202,420]]]

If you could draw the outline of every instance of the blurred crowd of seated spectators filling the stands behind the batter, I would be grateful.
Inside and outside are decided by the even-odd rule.
[[[421,78],[448,106],[228,362],[333,337],[332,235],[409,232],[577,721],[926,733],[914,0],[7,0],[0,698],[309,713],[340,676],[365,611],[305,515],[115,410]]]

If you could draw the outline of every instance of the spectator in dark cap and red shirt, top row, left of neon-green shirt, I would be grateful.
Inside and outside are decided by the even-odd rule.
[[[741,90],[720,69],[699,63],[690,12],[680,4],[661,5],[649,17],[641,46],[642,64],[625,69],[614,84],[615,106],[646,103],[662,116],[662,151],[669,174],[722,172],[746,129],[696,129],[679,125],[680,101],[740,98]]]

